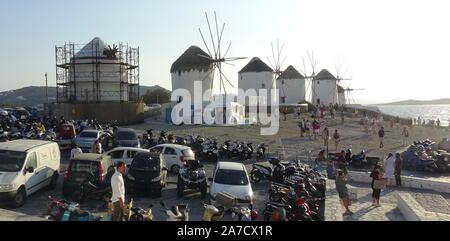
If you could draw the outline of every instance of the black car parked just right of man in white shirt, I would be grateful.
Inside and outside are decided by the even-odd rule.
[[[139,152],[133,158],[126,176],[126,189],[132,193],[153,193],[160,197],[166,186],[167,168],[160,155]]]

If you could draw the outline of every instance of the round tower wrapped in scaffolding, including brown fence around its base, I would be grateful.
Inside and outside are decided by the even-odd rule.
[[[107,45],[94,38],[86,45],[55,47],[57,103],[52,115],[122,124],[144,120],[139,93],[139,48]]]

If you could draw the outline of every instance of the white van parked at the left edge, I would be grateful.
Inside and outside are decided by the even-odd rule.
[[[58,180],[61,154],[58,144],[39,140],[0,143],[0,201],[22,206],[27,196]]]

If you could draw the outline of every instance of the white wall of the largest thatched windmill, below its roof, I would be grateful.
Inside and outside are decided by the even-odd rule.
[[[174,72],[171,73],[172,75],[172,91],[176,89],[186,89],[191,93],[191,101],[192,104],[194,104],[194,81],[201,81],[202,82],[202,91],[203,93],[210,88],[214,88],[212,86],[213,83],[213,71],[198,71],[198,70],[191,70],[191,71],[181,71],[181,72]],[[207,96],[207,99],[204,99],[203,101],[209,101],[211,99],[211,95]]]

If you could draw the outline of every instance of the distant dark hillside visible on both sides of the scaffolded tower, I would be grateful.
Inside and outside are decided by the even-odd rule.
[[[141,86],[140,95],[144,95],[148,90],[162,88],[159,85]],[[48,87],[48,97],[50,102],[56,101],[56,87]],[[16,106],[36,106],[45,102],[45,86],[28,86],[16,90],[0,92],[0,105]]]

